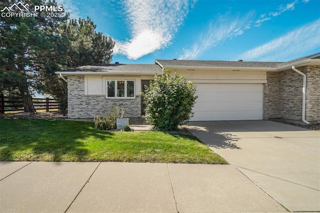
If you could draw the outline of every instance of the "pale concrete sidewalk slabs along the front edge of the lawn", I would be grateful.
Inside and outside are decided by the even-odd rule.
[[[282,212],[232,165],[0,162],[1,212]]]

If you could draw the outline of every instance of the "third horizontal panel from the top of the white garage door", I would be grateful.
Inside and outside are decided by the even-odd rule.
[[[262,110],[260,101],[242,101],[242,102],[213,102],[207,104],[206,102],[197,102],[194,104],[193,111],[252,111]]]

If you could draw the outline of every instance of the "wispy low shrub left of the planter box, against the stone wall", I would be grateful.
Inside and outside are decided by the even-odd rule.
[[[124,109],[121,108],[121,114],[119,116],[119,108],[117,106],[112,107],[111,112],[104,116],[94,117],[94,127],[101,130],[111,130],[116,128],[116,118],[121,118],[124,114]]]

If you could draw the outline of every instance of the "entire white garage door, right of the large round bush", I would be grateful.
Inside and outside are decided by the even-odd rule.
[[[191,120],[261,120],[263,84],[197,83]]]

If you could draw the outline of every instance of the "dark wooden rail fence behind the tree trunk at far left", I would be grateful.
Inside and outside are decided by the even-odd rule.
[[[38,98],[32,97],[33,106],[36,109],[45,109],[46,112],[49,109],[59,108],[59,99],[54,98]],[[8,99],[7,96],[0,94],[0,113],[4,114],[5,111],[23,111],[23,105],[21,98]]]

